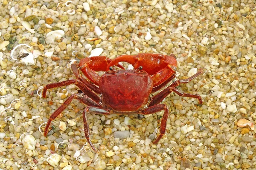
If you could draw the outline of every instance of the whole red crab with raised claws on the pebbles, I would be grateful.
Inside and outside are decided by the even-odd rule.
[[[124,70],[119,62],[132,64],[135,70]],[[117,66],[121,69],[115,69]],[[177,61],[171,54],[137,54],[122,55],[111,60],[105,56],[97,56],[81,59],[79,64],[72,64],[71,68],[77,79],[63,82],[55,82],[44,87],[42,95],[46,97],[47,89],[58,88],[65,85],[75,84],[83,93],[72,94],[52,115],[50,116],[44,136],[47,135],[49,126],[62,111],[75,98],[87,105],[83,111],[84,133],[87,142],[95,152],[98,152],[90,140],[87,113],[108,115],[117,114],[153,114],[164,110],[161,120],[160,135],[153,142],[156,144],[166,131],[168,119],[168,106],[159,104],[172,91],[179,96],[193,97],[202,103],[198,94],[187,94],[176,88],[181,83],[188,83],[203,73],[201,69],[188,79],[173,82],[159,94],[153,96],[149,101],[149,95],[166,86],[168,82],[176,77]],[[79,74],[82,71],[90,82]],[[95,71],[106,71],[100,77]],[[91,83],[92,82],[92,83]],[[99,95],[101,94],[101,95]]]

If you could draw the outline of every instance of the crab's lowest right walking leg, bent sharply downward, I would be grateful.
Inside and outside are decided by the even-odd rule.
[[[147,115],[147,114],[157,113],[162,110],[164,110],[164,113],[163,113],[163,117],[161,120],[160,135],[157,137],[156,140],[154,140],[153,144],[157,144],[157,142],[159,142],[159,140],[163,137],[163,135],[166,132],[166,123],[167,123],[167,119],[169,116],[168,107],[165,104],[154,105],[154,106],[151,106],[151,107],[143,110],[142,113],[139,113],[139,114]]]

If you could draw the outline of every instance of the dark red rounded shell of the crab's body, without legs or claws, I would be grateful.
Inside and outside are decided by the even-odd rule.
[[[105,105],[116,111],[136,111],[148,102],[153,81],[145,71],[107,71],[99,79],[99,89]]]

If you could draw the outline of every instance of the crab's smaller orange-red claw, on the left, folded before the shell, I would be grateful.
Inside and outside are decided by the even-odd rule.
[[[79,69],[91,82],[95,85],[99,85],[100,76],[95,71],[108,71],[108,65],[111,61],[111,59],[105,56],[88,57],[81,59],[79,62]],[[118,63],[115,65],[124,69],[124,67]]]

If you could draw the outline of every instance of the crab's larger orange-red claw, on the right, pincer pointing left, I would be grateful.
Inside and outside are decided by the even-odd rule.
[[[154,87],[156,87],[172,77],[177,71],[175,58],[174,54],[170,56],[163,54],[122,55],[113,59],[108,68],[119,62],[128,62],[133,65],[134,69],[142,66],[143,70],[151,75]]]

